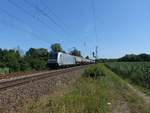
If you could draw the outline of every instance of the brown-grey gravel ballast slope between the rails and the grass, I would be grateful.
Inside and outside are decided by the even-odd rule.
[[[85,67],[86,68],[86,67]],[[84,68],[72,70],[57,76],[31,81],[21,86],[16,86],[0,91],[0,113],[16,113],[30,101],[36,101],[39,97],[64,88],[78,79]]]

